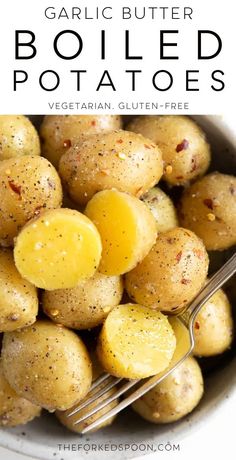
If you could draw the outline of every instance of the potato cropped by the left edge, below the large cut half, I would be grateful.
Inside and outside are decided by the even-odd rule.
[[[0,331],[14,331],[36,321],[36,288],[17,271],[12,251],[0,249]]]

